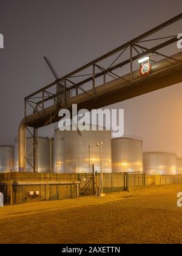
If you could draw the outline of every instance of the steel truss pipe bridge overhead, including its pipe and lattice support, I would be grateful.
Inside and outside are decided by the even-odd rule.
[[[24,99],[25,116],[18,132],[19,171],[25,171],[26,161],[30,163],[30,151],[25,150],[27,130],[33,137],[33,162],[30,165],[36,171],[38,128],[59,121],[61,108],[71,111],[72,104],[77,104],[78,110],[92,110],[182,82],[182,52],[177,49],[177,35],[156,37],[158,32],[181,19],[182,13],[67,76],[56,77],[52,84],[27,96]],[[161,53],[160,50],[164,52],[165,48],[169,49],[167,47],[175,54]],[[143,77],[137,61],[149,55],[152,70]],[[154,60],[156,57],[157,61]]]

